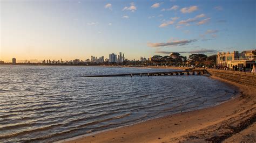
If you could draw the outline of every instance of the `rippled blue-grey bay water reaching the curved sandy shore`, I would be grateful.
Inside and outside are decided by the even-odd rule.
[[[0,66],[0,142],[56,141],[227,101],[236,93],[206,76],[82,77],[172,71]]]

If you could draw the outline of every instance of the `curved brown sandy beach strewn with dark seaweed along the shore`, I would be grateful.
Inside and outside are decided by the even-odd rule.
[[[229,83],[239,87],[239,95],[220,105],[191,112],[177,113],[90,136],[83,135],[63,141],[256,142],[256,89],[233,82]]]

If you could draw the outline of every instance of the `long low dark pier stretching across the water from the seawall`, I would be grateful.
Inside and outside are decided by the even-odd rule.
[[[199,70],[181,70],[181,71],[163,71],[153,73],[131,73],[131,74],[112,74],[112,75],[85,75],[82,77],[114,77],[114,76],[172,76],[172,75],[201,75],[205,74],[204,69]]]

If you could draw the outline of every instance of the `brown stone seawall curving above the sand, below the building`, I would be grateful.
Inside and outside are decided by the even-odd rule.
[[[219,69],[206,69],[207,73],[227,81],[235,82],[250,87],[256,87],[256,73],[247,73],[242,71],[230,71]]]

